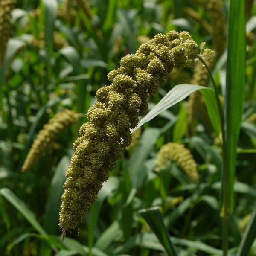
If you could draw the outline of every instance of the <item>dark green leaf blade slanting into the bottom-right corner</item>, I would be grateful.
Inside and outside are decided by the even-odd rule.
[[[244,236],[239,245],[239,250],[236,256],[247,256],[249,255],[250,248],[253,244],[253,241],[256,238],[256,204],[254,206],[249,224],[245,230]]]

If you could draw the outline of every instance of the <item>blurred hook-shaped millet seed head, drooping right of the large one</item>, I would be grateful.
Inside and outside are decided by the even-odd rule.
[[[183,144],[169,142],[160,148],[157,154],[156,171],[165,169],[171,161],[177,162],[194,182],[198,182],[195,160]]]

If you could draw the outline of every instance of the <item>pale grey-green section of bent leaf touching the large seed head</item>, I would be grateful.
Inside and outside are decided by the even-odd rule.
[[[199,85],[193,85],[193,84],[179,84],[170,90],[166,96],[163,97],[163,99],[158,102],[157,105],[154,106],[154,108],[151,109],[151,111],[148,112],[146,116],[143,117],[143,119],[140,120],[138,126],[134,128],[133,131],[135,131],[140,126],[144,125],[146,122],[153,119],[158,114],[162,113],[166,109],[172,107],[173,105],[177,104],[178,102],[181,102],[183,99],[185,99],[187,96],[189,96],[190,93],[199,90],[212,90],[208,87],[199,86]]]

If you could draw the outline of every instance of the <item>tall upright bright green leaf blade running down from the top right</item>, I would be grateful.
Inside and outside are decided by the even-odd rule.
[[[231,0],[228,28],[227,81],[224,106],[226,167],[223,174],[223,202],[233,209],[236,148],[239,140],[245,93],[245,1]],[[226,170],[225,170],[226,169]],[[227,216],[226,216],[227,217]]]

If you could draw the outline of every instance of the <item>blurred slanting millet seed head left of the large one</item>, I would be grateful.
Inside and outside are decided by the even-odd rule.
[[[21,171],[25,172],[31,169],[49,148],[54,148],[56,138],[71,124],[77,122],[78,117],[76,112],[68,109],[64,109],[53,116],[34,140]]]

